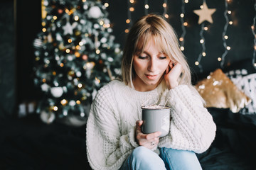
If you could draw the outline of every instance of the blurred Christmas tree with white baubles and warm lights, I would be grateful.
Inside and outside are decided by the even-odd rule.
[[[44,0],[35,47],[35,85],[43,92],[37,113],[85,122],[100,87],[120,75],[122,51],[107,9],[93,0]],[[41,117],[43,118],[43,117]]]

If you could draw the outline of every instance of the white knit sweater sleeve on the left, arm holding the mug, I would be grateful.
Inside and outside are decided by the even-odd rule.
[[[87,158],[92,169],[119,169],[137,147],[134,128],[122,135],[110,88],[103,87],[92,102],[87,120]]]

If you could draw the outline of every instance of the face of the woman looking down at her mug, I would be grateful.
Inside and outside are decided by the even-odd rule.
[[[147,43],[144,51],[134,55],[133,68],[135,76],[134,88],[137,91],[151,91],[158,86],[166,68],[169,67],[170,57],[156,48],[153,39]]]

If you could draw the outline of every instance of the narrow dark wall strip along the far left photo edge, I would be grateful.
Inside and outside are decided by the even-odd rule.
[[[0,1],[0,118],[16,106],[14,1]]]

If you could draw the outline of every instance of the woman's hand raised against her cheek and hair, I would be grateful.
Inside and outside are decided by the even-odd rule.
[[[174,89],[178,86],[178,77],[180,77],[183,67],[181,64],[170,62],[169,66],[166,69],[166,74],[164,75],[164,79],[166,81],[166,86],[168,89]]]

